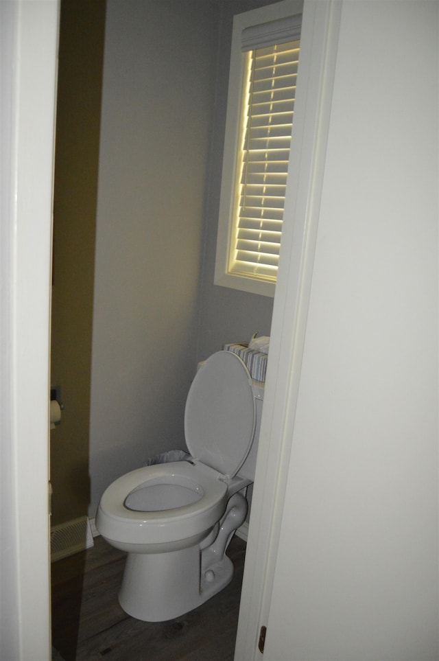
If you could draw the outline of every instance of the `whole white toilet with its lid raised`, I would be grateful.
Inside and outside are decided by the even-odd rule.
[[[133,470],[104,491],[96,527],[128,553],[119,603],[129,615],[176,618],[232,580],[226,549],[246,520],[241,492],[254,480],[262,400],[239,356],[214,353],[187,396],[189,459]]]

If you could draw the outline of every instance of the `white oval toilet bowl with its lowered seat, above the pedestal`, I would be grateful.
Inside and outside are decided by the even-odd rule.
[[[105,539],[128,553],[159,553],[200,542],[221,517],[227,485],[198,462],[139,468],[106,489],[97,525]]]

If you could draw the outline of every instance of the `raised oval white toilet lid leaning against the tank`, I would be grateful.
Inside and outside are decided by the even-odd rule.
[[[256,423],[252,379],[231,351],[213,353],[187,396],[185,435],[195,459],[233,477],[250,451]]]

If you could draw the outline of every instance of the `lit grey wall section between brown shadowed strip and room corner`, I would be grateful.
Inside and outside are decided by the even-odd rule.
[[[109,0],[95,261],[91,507],[185,448],[219,5]]]

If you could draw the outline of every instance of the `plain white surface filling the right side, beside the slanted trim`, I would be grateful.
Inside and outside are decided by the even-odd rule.
[[[439,656],[438,174],[438,3],[343,3],[264,658]]]

